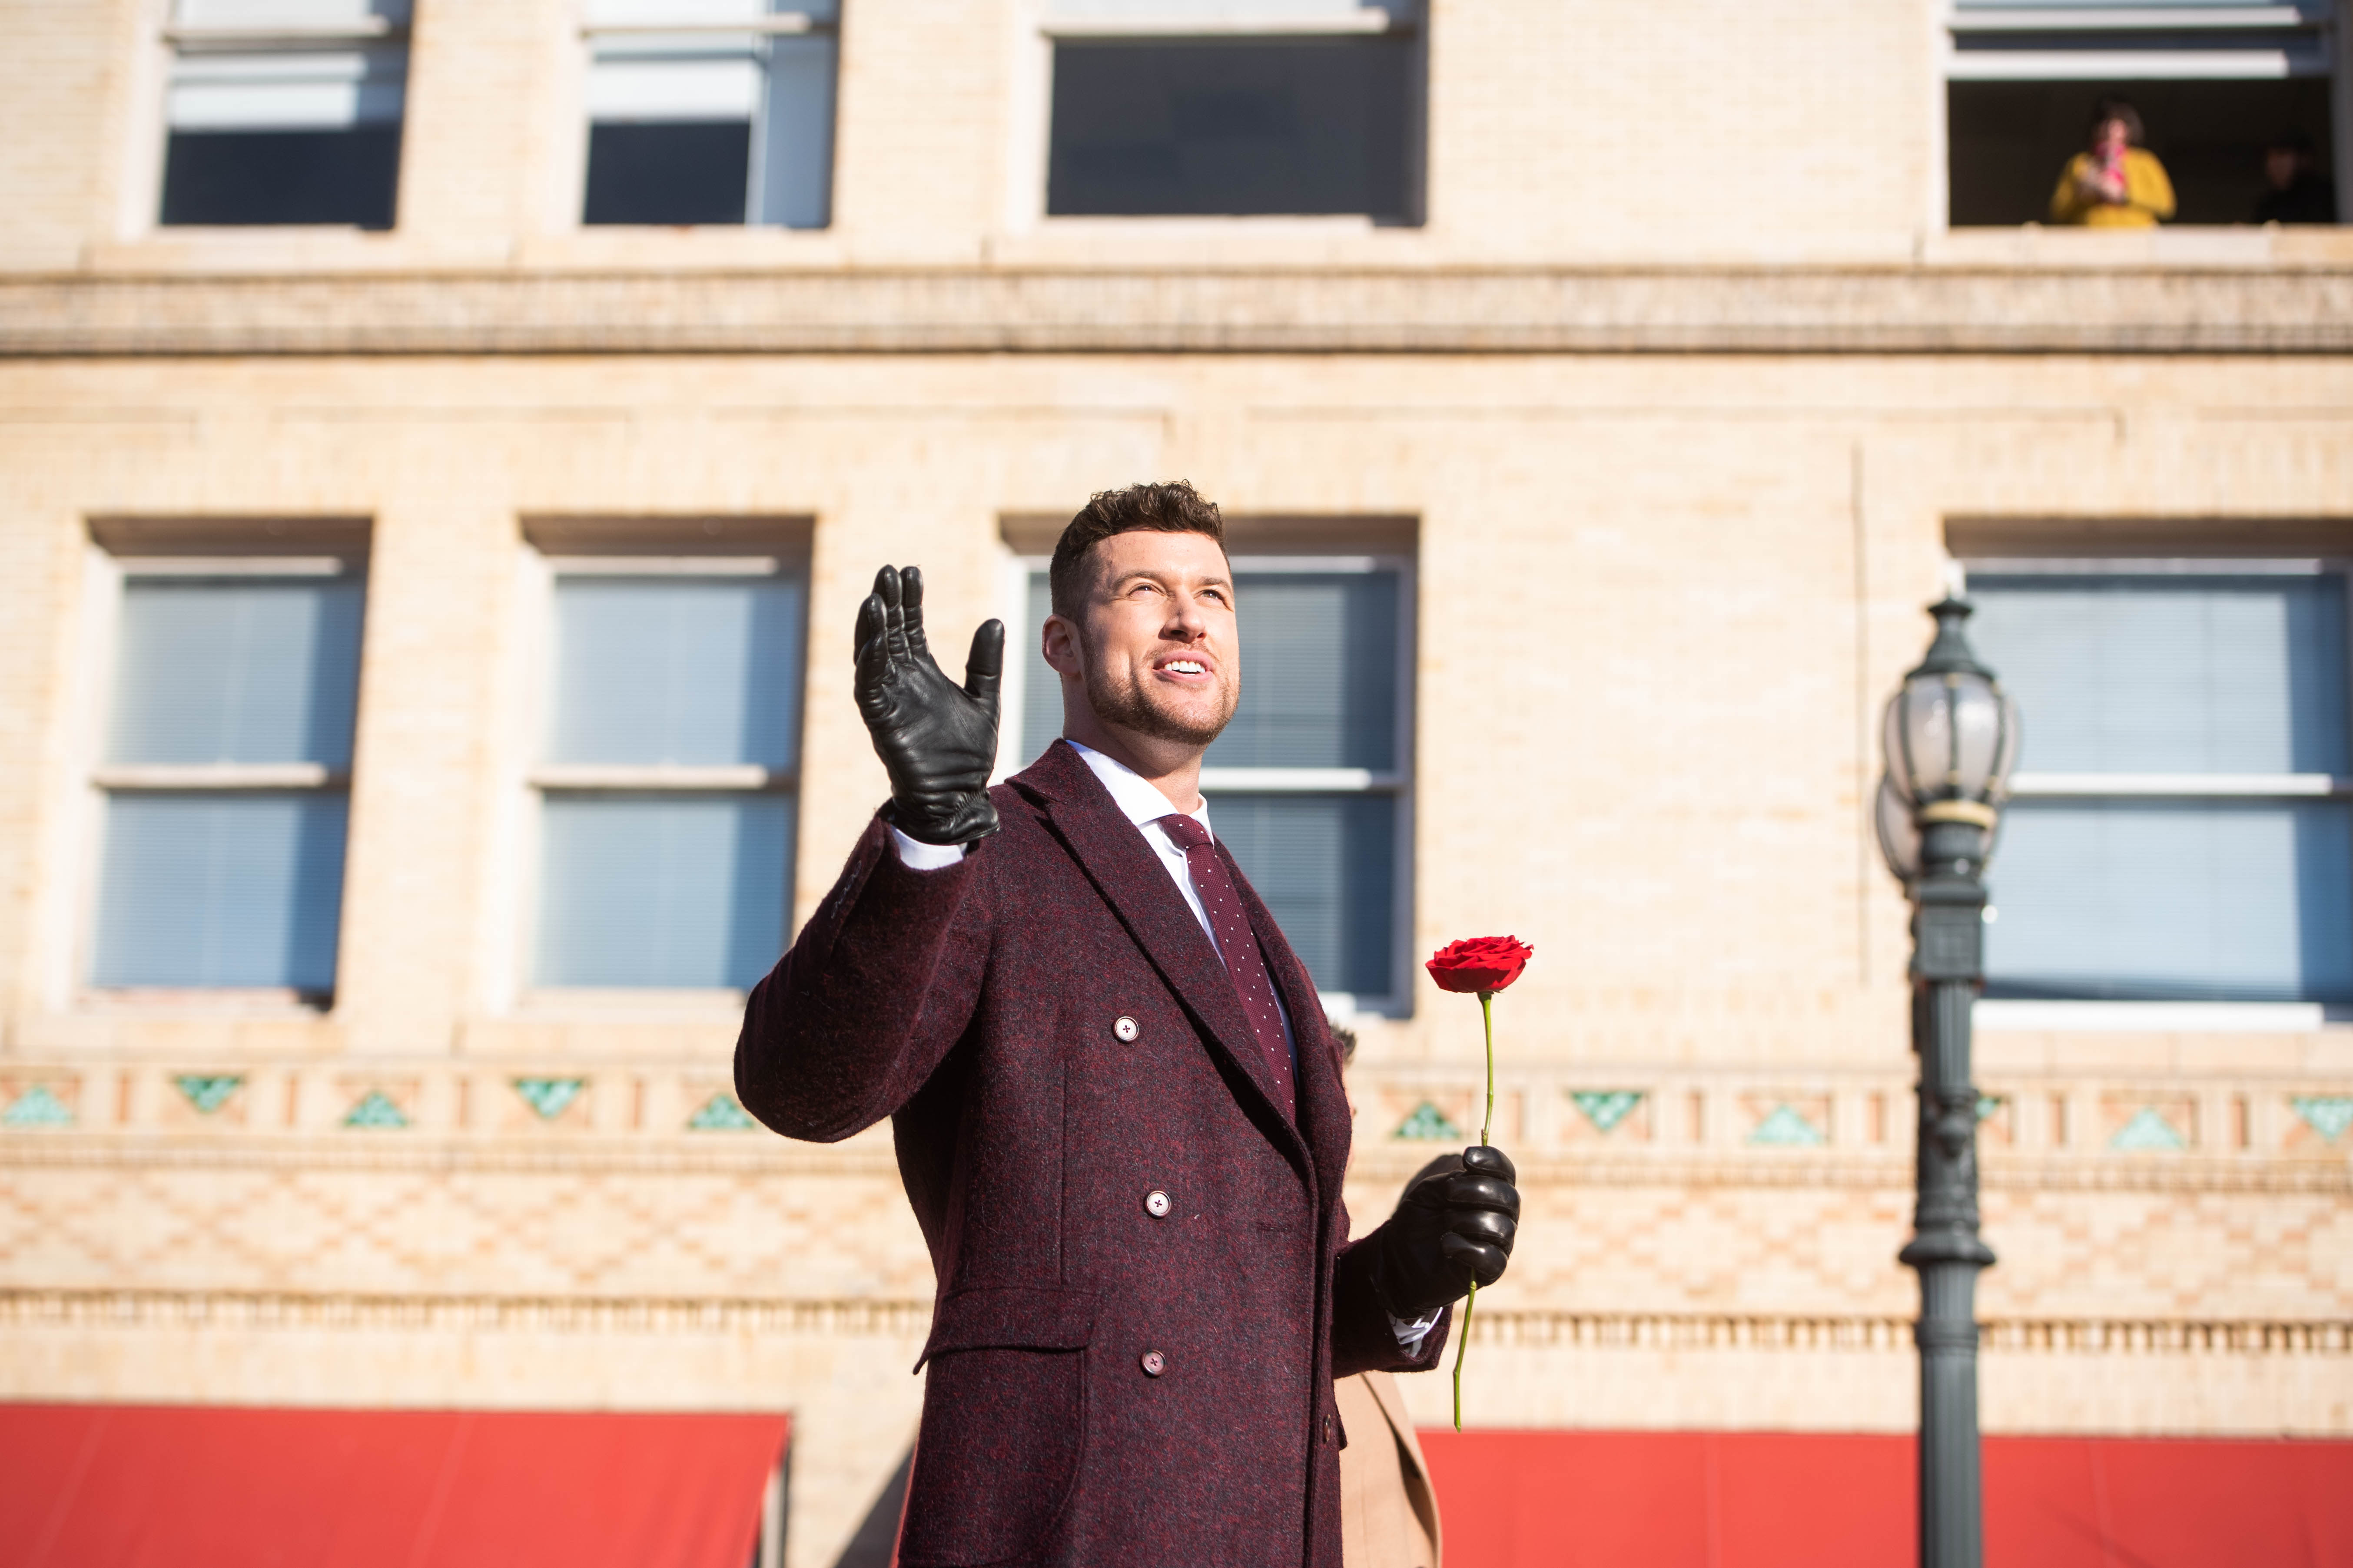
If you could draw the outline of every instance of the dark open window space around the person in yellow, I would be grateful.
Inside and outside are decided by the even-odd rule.
[[[2052,188],[2082,150],[2092,108],[2125,99],[2148,127],[2179,209],[2174,223],[2249,223],[2268,183],[2264,148],[2306,134],[2329,176],[2327,80],[1953,82],[1953,226],[2045,223]]]

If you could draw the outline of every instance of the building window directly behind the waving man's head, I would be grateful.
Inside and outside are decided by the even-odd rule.
[[[1202,759],[1209,823],[1334,1011],[1402,1011],[1412,985],[1412,559],[1235,555],[1242,705]],[[1021,759],[1061,733],[1028,569]]]

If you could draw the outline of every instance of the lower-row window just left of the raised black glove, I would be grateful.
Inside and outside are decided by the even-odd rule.
[[[558,557],[541,987],[748,990],[793,884],[805,581],[781,557]]]

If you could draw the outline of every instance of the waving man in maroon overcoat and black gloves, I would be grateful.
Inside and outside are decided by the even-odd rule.
[[[791,1138],[892,1117],[939,1274],[899,1561],[1339,1568],[1332,1378],[1435,1366],[1511,1253],[1511,1161],[1348,1241],[1315,987],[1200,799],[1242,691],[1217,508],[1094,496],[1052,590],[1064,738],[988,790],[1005,628],[955,686],[922,578],[878,574],[892,797],[753,990],[736,1088]]]

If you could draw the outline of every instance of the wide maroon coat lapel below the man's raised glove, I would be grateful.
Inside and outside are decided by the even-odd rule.
[[[1111,799],[1085,757],[1056,741],[1035,764],[1009,780],[1047,809],[1056,837],[1071,846],[1080,870],[1094,882],[1127,933],[1136,938],[1153,969],[1167,978],[1202,1034],[1249,1081],[1271,1119],[1292,1133],[1299,1154],[1306,1140],[1297,1135],[1275,1098],[1266,1053],[1242,1013],[1242,999],[1226,976],[1224,959],[1209,945],[1209,933],[1193,919],[1151,844],[1127,813]],[[1289,997],[1285,997],[1289,1001]],[[1315,1161],[1322,1166],[1322,1161]]]

